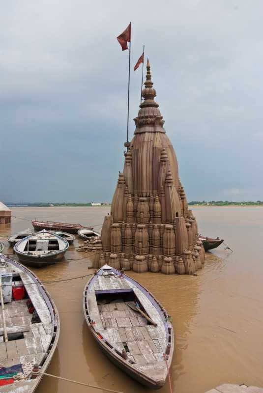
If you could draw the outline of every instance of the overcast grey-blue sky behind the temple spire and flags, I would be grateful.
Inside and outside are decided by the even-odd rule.
[[[130,21],[132,69],[145,44],[187,199],[263,200],[262,16],[262,0],[1,1],[0,200],[111,201]]]

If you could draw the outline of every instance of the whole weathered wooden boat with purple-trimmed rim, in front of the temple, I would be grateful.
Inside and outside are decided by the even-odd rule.
[[[90,332],[113,363],[149,388],[165,384],[174,330],[146,288],[104,265],[85,286],[83,309]]]

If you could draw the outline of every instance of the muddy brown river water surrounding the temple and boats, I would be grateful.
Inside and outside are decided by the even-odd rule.
[[[13,208],[9,233],[30,227],[30,220],[47,219],[98,225],[108,207]],[[223,383],[263,387],[263,208],[195,207],[199,231],[223,237],[221,245],[206,253],[198,276],[165,276],[127,272],[145,285],[173,317],[176,336],[171,367],[173,392],[204,393]],[[82,243],[82,241],[80,241]],[[32,269],[40,280],[62,280],[86,275],[90,254],[75,251],[75,240],[63,263]],[[12,253],[5,242],[4,253]],[[84,258],[84,259],[80,259]],[[48,372],[124,393],[152,392],[126,376],[97,347],[88,332],[82,293],[88,278],[45,284],[60,317],[58,348]],[[80,385],[43,377],[37,393],[99,392]],[[169,393],[169,383],[159,391]]]

